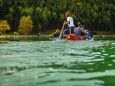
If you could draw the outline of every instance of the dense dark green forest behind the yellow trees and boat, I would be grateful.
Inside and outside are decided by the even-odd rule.
[[[31,16],[33,33],[61,28],[69,11],[93,31],[115,31],[115,0],[0,0],[0,20],[18,31],[23,16]]]

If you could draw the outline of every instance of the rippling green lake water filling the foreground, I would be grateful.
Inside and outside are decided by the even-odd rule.
[[[115,86],[115,41],[1,42],[0,86]]]

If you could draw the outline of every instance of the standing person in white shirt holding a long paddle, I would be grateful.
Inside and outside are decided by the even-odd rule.
[[[64,25],[68,25],[68,29],[64,30],[64,35],[66,34],[73,34],[74,33],[74,21],[71,17],[71,14],[69,12],[65,15],[67,21],[64,23]]]

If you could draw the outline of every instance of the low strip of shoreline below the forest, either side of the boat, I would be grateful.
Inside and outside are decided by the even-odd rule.
[[[93,35],[94,40],[115,40],[115,35]],[[49,35],[1,35],[3,40],[51,40]]]

